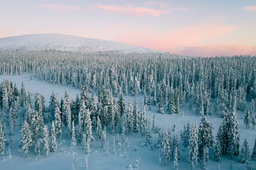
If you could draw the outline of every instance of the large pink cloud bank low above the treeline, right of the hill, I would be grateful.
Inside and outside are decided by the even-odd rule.
[[[211,43],[211,39],[227,36],[235,29],[230,25],[206,24],[153,33],[149,28],[140,28],[123,33],[116,41],[188,56],[256,55],[255,46]],[[203,43],[205,41],[208,43]]]

